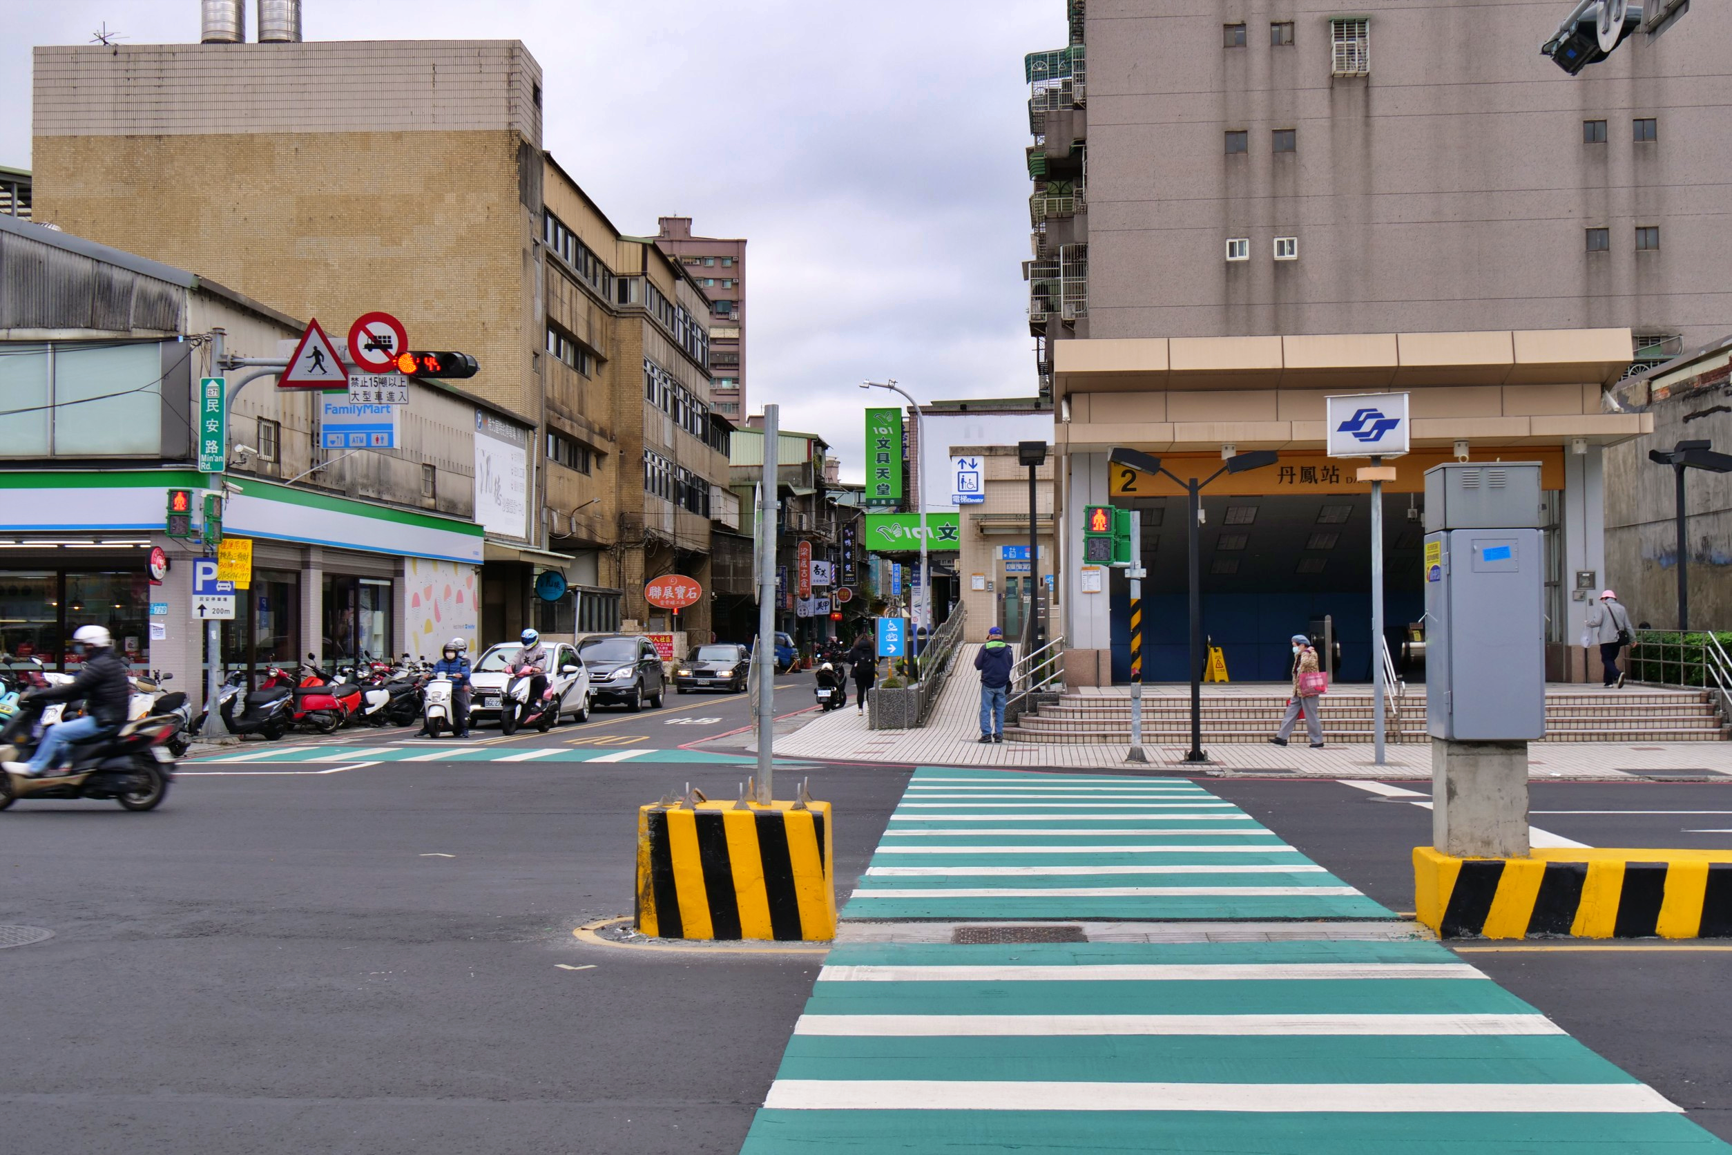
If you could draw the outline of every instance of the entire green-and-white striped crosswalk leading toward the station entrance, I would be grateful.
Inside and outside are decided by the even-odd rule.
[[[1102,805],[1115,793],[1140,803],[1129,819]],[[1157,798],[1181,814],[1152,817],[1171,814]],[[1107,817],[1058,819],[1063,802]],[[1389,911],[1190,783],[920,771],[845,916],[1093,906],[1152,923],[1346,911],[1367,937],[838,945],[745,1155],[1729,1150],[1458,956],[1375,937]]]

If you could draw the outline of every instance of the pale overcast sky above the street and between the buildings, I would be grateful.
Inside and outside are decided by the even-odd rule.
[[[0,0],[0,165],[29,166],[31,45],[104,23],[196,43],[199,3]],[[613,223],[681,213],[752,242],[748,403],[831,442],[845,478],[863,379],[920,400],[1036,390],[1022,54],[1065,42],[1063,0],[305,0],[303,29],[527,43],[544,144]]]

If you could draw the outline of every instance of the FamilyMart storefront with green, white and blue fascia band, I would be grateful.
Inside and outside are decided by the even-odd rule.
[[[204,551],[163,530],[168,490],[203,487],[187,469],[0,473],[0,651],[69,668],[73,630],[106,625],[133,668],[173,674],[197,701],[192,563]],[[478,525],[230,478],[223,537],[253,542],[251,580],[222,630],[229,670],[476,642]]]

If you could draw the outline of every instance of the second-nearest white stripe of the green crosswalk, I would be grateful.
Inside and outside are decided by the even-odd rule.
[[[1545,1015],[800,1015],[797,1036],[1562,1036]]]

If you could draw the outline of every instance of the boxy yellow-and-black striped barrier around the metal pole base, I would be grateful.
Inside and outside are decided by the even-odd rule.
[[[830,803],[641,807],[634,923],[658,939],[833,939]]]

